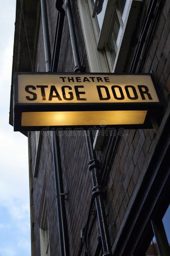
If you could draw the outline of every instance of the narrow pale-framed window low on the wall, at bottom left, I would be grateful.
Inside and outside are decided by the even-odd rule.
[[[39,233],[40,233],[41,256],[50,256],[46,197],[44,199],[44,204],[42,209]]]

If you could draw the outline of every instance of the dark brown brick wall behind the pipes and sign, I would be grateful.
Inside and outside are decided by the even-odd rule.
[[[146,14],[149,1],[145,1],[142,5],[140,24]],[[56,24],[56,10],[54,7],[55,1],[48,1],[48,22],[49,34],[51,38],[51,49],[54,40]],[[85,52],[85,45],[81,30],[81,23],[77,2],[71,1],[72,10],[74,13],[74,22],[76,26],[76,35],[79,46],[79,52],[82,64],[86,66],[86,72],[89,71],[88,61]],[[156,81],[161,91],[161,96],[166,108],[170,96],[170,47],[169,47],[169,1],[164,1],[154,34],[152,36],[147,57],[143,64],[142,72],[154,72]],[[140,29],[141,26],[138,26]],[[140,31],[136,31],[136,36],[140,35]],[[137,43],[137,42],[136,42]],[[132,47],[135,49],[135,45]],[[44,61],[44,47],[42,35],[42,22],[40,23],[37,63],[38,71],[45,71]],[[127,67],[130,66],[132,59],[129,59]],[[60,59],[58,64],[58,72],[73,72],[74,59],[72,55],[69,26],[67,15],[63,27],[63,35],[61,41]],[[154,130],[126,130],[124,136],[119,138],[118,148],[113,156],[113,164],[108,170],[107,194],[105,197],[105,211],[107,214],[109,234],[111,243],[118,230],[121,222],[126,216],[126,211],[132,200],[136,185],[140,183],[145,175],[143,166],[147,161],[150,149],[153,145],[156,134]],[[56,197],[55,184],[53,174],[53,159],[52,159],[52,145],[51,135],[43,136],[41,156],[38,169],[37,178],[33,178],[33,170],[36,156],[35,134],[30,133],[30,152],[31,152],[31,179],[32,179],[32,200],[31,205],[34,209],[33,225],[33,241],[35,242],[35,255],[40,255],[39,245],[39,221],[41,218],[42,204],[44,200],[44,193],[47,198],[48,208],[48,224],[49,224],[49,244],[51,255],[59,255],[59,238],[57,226],[57,212],[56,212]],[[105,164],[105,158],[108,154],[107,145],[109,138],[105,138],[102,151],[98,152],[98,159],[101,166]],[[89,211],[89,204],[91,200],[91,174],[88,170],[88,156],[85,142],[85,135],[68,132],[60,136],[61,160],[63,171],[63,183],[66,197],[66,213],[69,228],[70,239],[70,255],[74,256],[77,253],[80,244],[80,231],[84,228],[86,218]],[[111,148],[112,149],[112,148]],[[113,150],[113,149],[112,149]],[[94,209],[95,210],[95,206]],[[90,225],[93,222],[94,215],[91,212]],[[89,228],[90,228],[89,225]],[[97,218],[94,219],[94,225],[90,235],[90,250],[93,255],[97,238],[99,235],[99,227]],[[57,254],[58,253],[58,254]],[[84,248],[81,255],[84,255]]]

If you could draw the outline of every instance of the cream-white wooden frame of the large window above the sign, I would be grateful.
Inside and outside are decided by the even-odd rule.
[[[105,46],[107,45],[108,37],[110,35],[110,28],[113,21],[111,16],[113,16],[113,12],[117,6],[117,1],[108,0],[103,26],[99,33],[97,21],[95,18],[92,18],[92,0],[77,0],[90,72],[115,72],[124,32],[126,30],[129,12],[131,10],[132,3],[135,1],[142,2],[143,0],[127,0],[124,6],[122,15],[123,27],[121,27],[122,32],[120,32],[118,35],[119,44],[117,47],[115,62],[112,68],[111,61],[108,57],[107,47]]]

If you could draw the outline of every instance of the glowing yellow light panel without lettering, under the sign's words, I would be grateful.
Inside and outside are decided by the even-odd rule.
[[[83,126],[143,124],[147,111],[23,112],[22,126]]]

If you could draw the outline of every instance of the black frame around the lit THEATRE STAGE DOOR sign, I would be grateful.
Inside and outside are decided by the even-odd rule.
[[[155,78],[152,73],[77,73],[77,75],[149,75],[151,76],[154,88],[156,90],[159,102],[130,102],[130,103],[18,103],[18,75],[74,75],[75,73],[50,73],[50,72],[15,72],[14,73],[14,131],[41,131],[44,126],[21,126],[22,112],[51,112],[51,111],[109,111],[109,110],[147,110],[145,122],[141,125],[106,125],[104,128],[124,128],[124,129],[148,129],[152,128],[151,117],[156,118],[160,116],[162,111],[162,101],[159,90],[157,88]],[[56,109],[57,108],[57,109]],[[94,125],[82,126],[48,126],[47,129],[65,130],[71,128],[72,130],[82,128],[87,130],[93,128]],[[95,125],[96,128],[101,128],[100,125]]]

